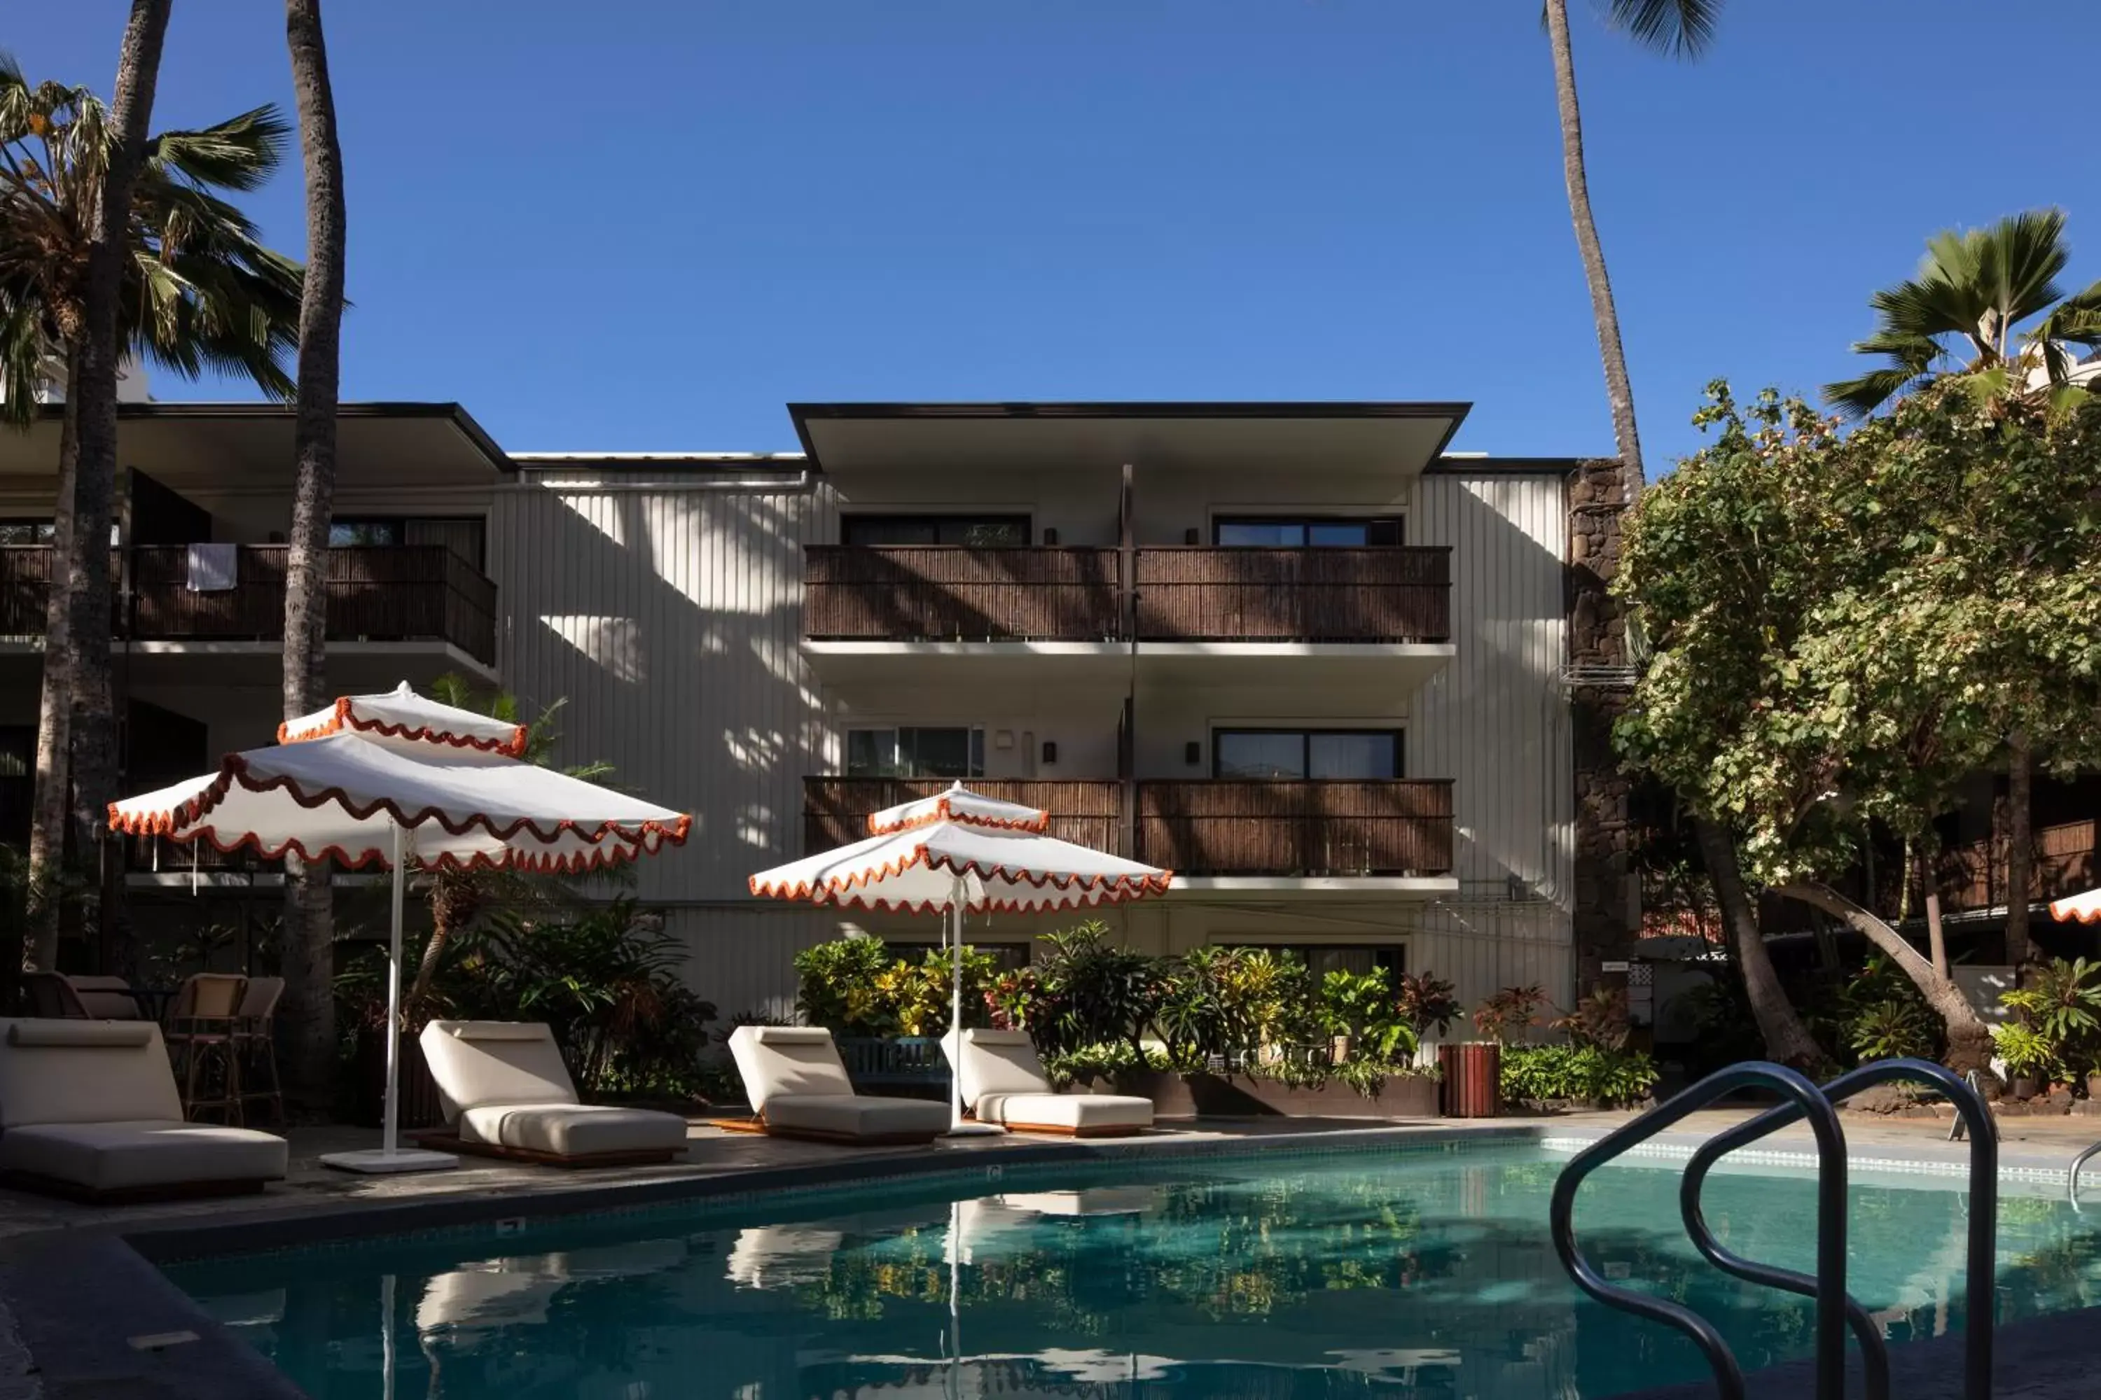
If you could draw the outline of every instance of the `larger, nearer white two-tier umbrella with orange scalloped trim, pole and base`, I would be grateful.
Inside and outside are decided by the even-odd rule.
[[[439,705],[401,684],[347,695],[292,720],[269,749],[227,754],[216,772],[109,804],[132,835],[208,842],[267,858],[296,852],[393,871],[387,949],[387,1106],[376,1152],[324,1157],[349,1171],[454,1167],[399,1146],[401,905],[410,861],[443,869],[576,873],[679,844],[691,816],[519,758],[525,728]]]

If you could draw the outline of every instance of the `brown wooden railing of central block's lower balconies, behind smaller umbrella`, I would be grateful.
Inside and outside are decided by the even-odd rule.
[[[929,798],[948,779],[803,779],[803,850],[868,835],[868,814]],[[973,779],[973,791],[1050,812],[1050,835],[1126,854],[1116,779]],[[1452,873],[1452,783],[1162,781],[1137,783],[1128,854],[1195,879],[1366,879]]]

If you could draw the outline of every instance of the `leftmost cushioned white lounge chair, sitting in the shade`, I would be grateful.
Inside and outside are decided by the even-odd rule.
[[[284,1167],[284,1138],[185,1121],[153,1022],[0,1018],[0,1180],[166,1201],[256,1192]]]

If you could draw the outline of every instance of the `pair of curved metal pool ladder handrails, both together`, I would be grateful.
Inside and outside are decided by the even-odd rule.
[[[1882,1333],[1868,1316],[1866,1308],[1861,1308],[1845,1291],[1847,1157],[1845,1131],[1838,1127],[1838,1117],[1832,1104],[1843,1098],[1851,1098],[1870,1085],[1901,1079],[1927,1081],[1939,1087],[1948,1096],[1950,1104],[1954,1104],[1962,1123],[1971,1129],[1971,1196],[1981,1203],[1981,1209],[1969,1211],[1967,1297],[1981,1297],[1985,1303],[1983,1308],[1971,1306],[1967,1310],[1964,1400],[1990,1400],[1992,1299],[1996,1291],[1994,1230],[1998,1222],[1998,1131],[1990,1108],[1983,1104],[1983,1096],[1977,1094],[1971,1083],[1956,1079],[1948,1068],[1927,1060],[1880,1060],[1876,1064],[1864,1064],[1861,1068],[1840,1075],[1824,1087],[1811,1085],[1796,1070],[1769,1062],[1738,1064],[1717,1075],[1708,1075],[1666,1104],[1660,1104],[1641,1119],[1607,1133],[1569,1161],[1561,1180],[1555,1184],[1553,1199],[1553,1238],[1563,1268],[1567,1268],[1569,1276],[1584,1293],[1597,1297],[1607,1308],[1620,1308],[1687,1333],[1706,1354],[1708,1364],[1714,1371],[1714,1381],[1721,1390],[1721,1400],[1742,1400],[1742,1369],[1738,1366],[1733,1352],[1729,1352],[1729,1345],[1721,1339],[1721,1333],[1687,1308],[1666,1303],[1643,1293],[1632,1293],[1630,1289],[1614,1289],[1599,1278],[1597,1272],[1590,1270],[1588,1259],[1584,1259],[1574,1245],[1572,1211],[1576,1188],[1582,1186],[1582,1180],[1605,1161],[1645,1142],[1647,1138],[1653,1138],[1672,1123],[1698,1112],[1733,1089],[1761,1081],[1771,1083],[1794,1102],[1782,1104],[1780,1108],[1763,1112],[1748,1123],[1740,1123],[1738,1127],[1717,1133],[1712,1140],[1702,1144],[1693,1152],[1691,1163],[1687,1163],[1685,1178],[1679,1184],[1679,1209],[1685,1219],[1685,1230],[1702,1257],[1723,1272],[1748,1282],[1801,1293],[1817,1301],[1817,1400],[1843,1400],[1845,1396],[1845,1327],[1851,1327],[1861,1343],[1861,1371],[1868,1400],[1887,1400],[1889,1352],[1882,1343]],[[1714,1238],[1702,1209],[1702,1188],[1706,1186],[1706,1175],[1717,1161],[1735,1148],[1756,1142],[1759,1138],[1765,1138],[1767,1133],[1805,1117],[1809,1119],[1811,1133],[1817,1140],[1815,1276],[1756,1264],[1754,1259],[1729,1253]],[[2093,1152],[2101,1152],[2101,1144],[2095,1144]],[[1836,1171],[1832,1169],[1834,1163]],[[1822,1282],[1826,1276],[1832,1280],[1830,1289]]]

